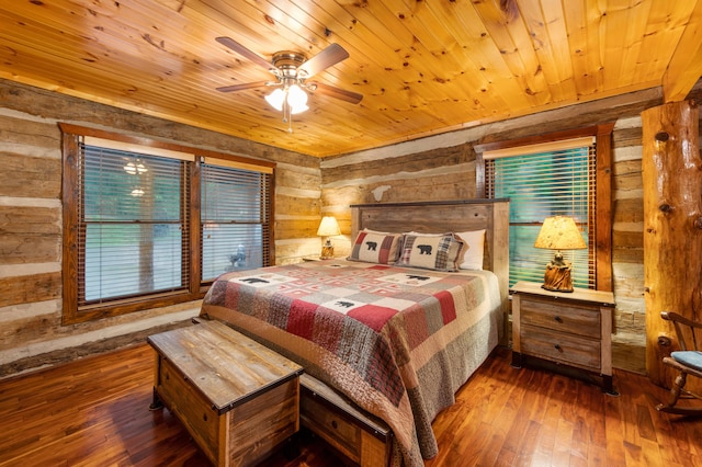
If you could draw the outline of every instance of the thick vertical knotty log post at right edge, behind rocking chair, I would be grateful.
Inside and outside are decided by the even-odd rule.
[[[702,161],[699,109],[671,102],[642,113],[646,371],[670,387],[663,356],[678,349],[660,311],[702,317]]]

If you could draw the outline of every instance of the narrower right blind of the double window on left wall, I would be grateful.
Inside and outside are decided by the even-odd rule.
[[[269,265],[271,171],[222,162],[207,158],[201,168],[203,282]]]

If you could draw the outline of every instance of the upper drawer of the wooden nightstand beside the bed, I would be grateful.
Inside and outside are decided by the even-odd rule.
[[[564,304],[557,300],[532,299],[523,296],[521,299],[522,324],[539,326],[558,332],[568,332],[600,339],[600,312],[592,307]]]

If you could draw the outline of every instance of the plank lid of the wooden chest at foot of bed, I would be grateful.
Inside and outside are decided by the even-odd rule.
[[[303,373],[295,362],[219,321],[202,321],[147,341],[219,414]]]

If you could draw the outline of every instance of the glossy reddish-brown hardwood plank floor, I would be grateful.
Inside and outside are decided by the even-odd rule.
[[[149,411],[154,351],[144,344],[0,381],[0,466],[206,466],[168,410]],[[429,466],[702,466],[702,419],[658,413],[664,389],[614,373],[619,397],[586,381],[509,365],[498,349],[433,423]],[[304,436],[295,458],[339,465]]]

